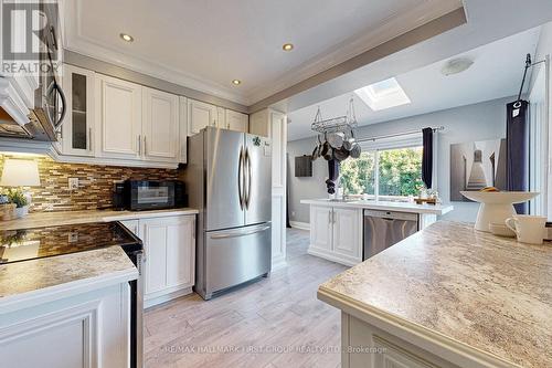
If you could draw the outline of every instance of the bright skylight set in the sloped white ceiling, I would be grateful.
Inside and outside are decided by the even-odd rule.
[[[354,93],[374,112],[411,103],[394,77],[370,84]]]

